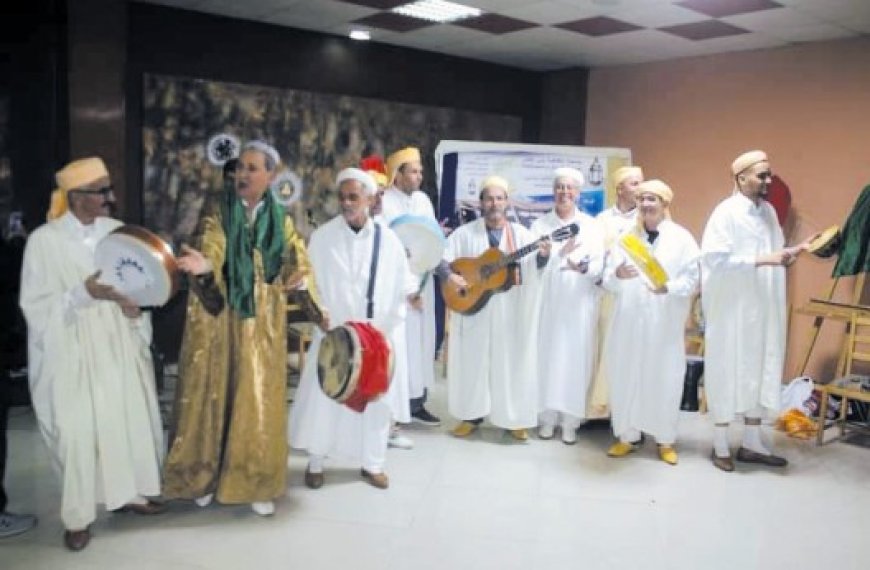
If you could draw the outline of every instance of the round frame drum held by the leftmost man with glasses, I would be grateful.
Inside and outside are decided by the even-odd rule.
[[[178,265],[172,248],[140,226],[125,225],[97,244],[100,282],[140,307],[161,307],[178,291]]]

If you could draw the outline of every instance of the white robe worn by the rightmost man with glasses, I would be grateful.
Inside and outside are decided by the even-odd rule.
[[[713,419],[779,410],[786,342],[785,268],[755,267],[782,249],[773,206],[736,192],[710,216],[703,252],[704,387]]]

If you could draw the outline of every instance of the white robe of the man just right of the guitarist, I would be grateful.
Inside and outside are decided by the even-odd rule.
[[[586,273],[565,269],[567,261],[559,253],[564,243],[553,244],[538,290],[538,408],[583,418],[596,360],[600,298],[596,282],[604,264],[604,235],[600,224],[577,209],[567,221],[551,211],[535,220],[531,230],[540,237],[572,222],[580,227],[575,238],[580,247],[569,258],[578,262],[588,256],[589,269]]]

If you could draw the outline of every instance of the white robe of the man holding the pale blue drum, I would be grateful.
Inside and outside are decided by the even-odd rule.
[[[413,214],[437,222],[429,197],[419,190],[407,195],[398,188],[384,192],[381,215],[387,227],[399,216]],[[412,273],[412,282],[419,289],[423,275]],[[416,289],[415,289],[416,291]],[[430,275],[421,292],[423,309],[409,308],[405,319],[405,350],[407,351],[408,387],[412,398],[423,396],[424,390],[435,382],[435,287]]]

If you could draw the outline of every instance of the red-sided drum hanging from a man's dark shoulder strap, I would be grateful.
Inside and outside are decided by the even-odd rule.
[[[348,321],[326,333],[317,353],[317,379],[323,393],[362,412],[385,394],[393,375],[389,341],[369,323]]]

